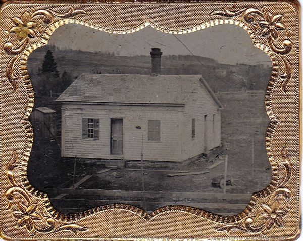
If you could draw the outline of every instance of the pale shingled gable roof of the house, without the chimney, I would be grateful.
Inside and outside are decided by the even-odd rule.
[[[185,104],[188,93],[201,84],[222,107],[201,75],[81,74],[57,101]]]

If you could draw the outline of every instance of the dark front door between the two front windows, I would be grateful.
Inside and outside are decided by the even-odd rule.
[[[111,154],[123,154],[123,119],[111,119]]]

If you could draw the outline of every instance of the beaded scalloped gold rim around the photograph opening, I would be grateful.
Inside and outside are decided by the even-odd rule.
[[[29,79],[29,75],[27,72],[27,60],[28,60],[29,55],[35,49],[48,44],[48,41],[51,39],[51,36],[52,36],[53,32],[56,31],[56,29],[58,29],[60,26],[66,25],[66,24],[80,24],[80,25],[83,25],[86,27],[90,27],[90,28],[93,28],[96,30],[100,30],[100,31],[104,31],[104,32],[112,33],[112,34],[135,33],[137,31],[142,30],[143,28],[145,28],[147,26],[151,26],[158,31],[168,33],[168,34],[186,34],[186,33],[200,31],[200,30],[203,30],[206,28],[210,28],[212,26],[217,26],[217,25],[222,25],[222,24],[233,24],[233,25],[243,28],[247,32],[247,34],[250,36],[252,45],[255,46],[257,49],[260,49],[263,52],[265,52],[272,61],[272,76],[269,80],[269,84],[268,84],[268,87],[266,90],[266,97],[265,97],[265,108],[266,108],[267,114],[270,118],[270,124],[267,128],[267,133],[266,133],[266,150],[267,150],[267,155],[268,155],[269,162],[270,162],[270,165],[272,168],[272,179],[271,179],[271,182],[269,183],[269,185],[265,189],[252,194],[251,200],[250,200],[249,204],[247,205],[247,207],[245,208],[245,210],[243,210],[241,213],[234,215],[234,216],[221,216],[221,215],[209,213],[209,212],[201,210],[201,209],[192,208],[192,207],[188,207],[188,206],[180,206],[180,205],[170,205],[170,206],[161,207],[161,208],[158,208],[157,210],[151,212],[150,214],[146,213],[142,209],[139,209],[139,208],[131,206],[131,205],[126,205],[126,204],[105,205],[105,206],[101,206],[101,207],[92,208],[92,209],[89,209],[89,210],[86,210],[86,211],[83,211],[80,213],[76,213],[76,214],[62,214],[62,213],[59,213],[58,211],[56,211],[53,208],[51,202],[49,201],[47,194],[35,189],[27,179],[27,162],[29,160],[30,150],[32,148],[32,143],[33,143],[33,130],[32,130],[31,124],[28,120],[29,120],[29,115],[31,114],[31,111],[33,108],[33,101],[34,101],[33,88],[32,88],[31,81]],[[26,46],[26,44],[27,44],[27,41],[24,41],[23,45]],[[80,220],[80,219],[86,218],[86,217],[94,215],[95,213],[98,213],[98,212],[108,211],[108,210],[113,210],[113,209],[121,209],[121,210],[127,210],[129,212],[140,215],[142,218],[144,218],[146,220],[152,220],[157,215],[170,210],[170,211],[181,211],[181,212],[192,213],[194,215],[197,215],[200,217],[202,216],[205,218],[212,218],[213,220],[215,220],[219,223],[232,223],[232,222],[235,222],[235,221],[247,216],[254,209],[255,204],[256,204],[256,199],[258,197],[263,197],[268,192],[272,192],[277,186],[277,180],[278,180],[277,164],[276,164],[276,162],[273,158],[272,152],[271,152],[271,138],[272,138],[272,135],[274,134],[274,130],[276,128],[278,121],[277,121],[277,118],[269,103],[271,90],[273,89],[273,86],[275,84],[274,75],[277,73],[277,69],[278,69],[277,57],[276,57],[275,53],[269,49],[269,47],[255,42],[254,33],[243,22],[240,22],[237,20],[230,20],[230,19],[219,19],[219,20],[205,22],[203,24],[200,24],[200,25],[190,28],[190,29],[184,29],[181,31],[168,31],[168,30],[158,27],[157,25],[151,23],[150,21],[146,21],[145,23],[143,23],[133,29],[128,29],[125,31],[112,31],[112,30],[103,29],[103,28],[100,28],[100,27],[97,27],[92,24],[88,24],[88,23],[85,23],[85,22],[79,21],[79,20],[74,20],[74,19],[60,20],[47,27],[47,30],[45,31],[45,34],[43,35],[40,43],[32,44],[25,49],[24,54],[21,56],[20,64],[21,64],[20,68],[22,70],[22,72],[21,72],[22,79],[26,85],[27,93],[28,93],[28,100],[29,100],[28,108],[27,108],[26,115],[24,118],[24,127],[26,129],[26,135],[27,135],[27,149],[26,149],[25,155],[23,155],[23,157],[22,157],[22,166],[21,166],[22,185],[29,192],[29,194],[34,195],[35,197],[42,200],[45,210],[47,211],[48,215],[51,216],[52,218],[54,218],[55,220],[70,222],[70,221],[75,221],[75,220]]]

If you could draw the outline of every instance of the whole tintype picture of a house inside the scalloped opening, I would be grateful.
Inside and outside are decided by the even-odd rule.
[[[123,203],[230,216],[270,183],[272,63],[242,28],[111,34],[69,24],[29,56],[28,71],[28,179],[61,213]]]

